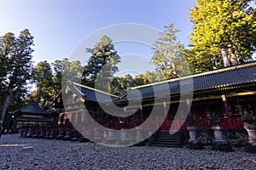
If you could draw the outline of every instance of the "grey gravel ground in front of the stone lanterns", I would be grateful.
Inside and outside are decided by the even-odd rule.
[[[32,150],[22,147],[33,146]],[[256,169],[256,154],[92,143],[2,135],[1,169]]]

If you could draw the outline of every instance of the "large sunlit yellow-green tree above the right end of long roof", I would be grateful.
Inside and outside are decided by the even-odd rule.
[[[252,60],[256,44],[255,8],[249,0],[197,0],[191,8],[192,44],[188,56],[194,72]],[[224,62],[224,63],[222,63]]]

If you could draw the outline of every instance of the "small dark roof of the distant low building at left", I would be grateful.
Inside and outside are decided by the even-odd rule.
[[[13,111],[13,113],[30,113],[30,114],[39,114],[39,115],[49,115],[48,111],[38,107],[38,105],[29,104],[24,107],[21,107],[18,110]]]

